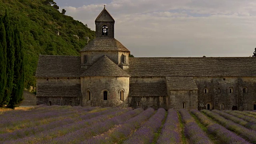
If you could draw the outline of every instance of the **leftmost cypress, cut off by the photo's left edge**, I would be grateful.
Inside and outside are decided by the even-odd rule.
[[[4,90],[6,87],[6,36],[4,24],[0,20],[0,107],[4,106]]]

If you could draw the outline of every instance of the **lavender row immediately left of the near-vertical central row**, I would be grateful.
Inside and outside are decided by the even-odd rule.
[[[154,133],[157,132],[164,119],[166,110],[159,108],[147,122],[143,124],[132,136],[128,137],[123,144],[150,144],[154,138]]]

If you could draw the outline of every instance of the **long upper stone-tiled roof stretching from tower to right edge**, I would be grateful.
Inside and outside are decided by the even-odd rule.
[[[130,76],[256,76],[254,57],[129,58]]]

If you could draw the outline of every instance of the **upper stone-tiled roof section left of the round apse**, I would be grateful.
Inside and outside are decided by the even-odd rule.
[[[80,77],[80,56],[39,56],[36,77]]]

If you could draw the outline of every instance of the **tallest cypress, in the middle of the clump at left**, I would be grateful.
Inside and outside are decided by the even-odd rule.
[[[14,39],[14,31],[13,26],[10,23],[8,12],[6,11],[5,16],[3,18],[4,27],[6,31],[6,58],[7,58],[7,66],[6,66],[6,88],[4,92],[4,99],[3,101],[5,104],[8,104],[10,100],[10,94],[12,92],[12,82],[13,82],[13,74],[14,74],[14,46],[13,46],[13,39]]]

